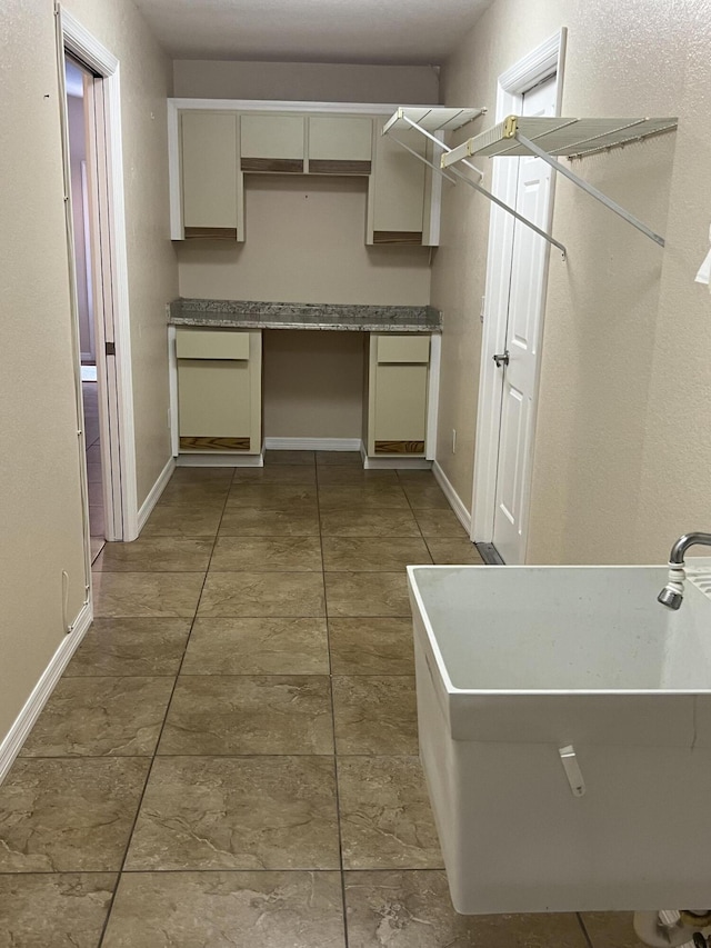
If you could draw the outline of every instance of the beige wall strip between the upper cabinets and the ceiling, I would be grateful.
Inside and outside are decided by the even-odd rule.
[[[339,66],[323,62],[176,60],[174,94],[196,99],[300,102],[437,103],[431,66]]]

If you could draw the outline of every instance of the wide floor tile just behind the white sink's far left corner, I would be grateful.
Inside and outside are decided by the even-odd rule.
[[[323,537],[327,572],[394,572],[432,558],[419,537]]]

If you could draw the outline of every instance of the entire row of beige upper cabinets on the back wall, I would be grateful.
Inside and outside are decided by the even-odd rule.
[[[169,106],[173,240],[244,240],[244,174],[287,173],[367,178],[367,245],[439,243],[441,179],[381,134],[387,117],[377,106],[370,114],[346,106],[339,114],[336,103],[322,112],[307,103],[303,112],[218,100]],[[399,137],[431,160],[422,136]]]

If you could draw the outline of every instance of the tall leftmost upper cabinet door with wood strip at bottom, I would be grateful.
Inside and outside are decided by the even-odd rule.
[[[186,238],[238,238],[237,116],[181,116],[182,214]]]

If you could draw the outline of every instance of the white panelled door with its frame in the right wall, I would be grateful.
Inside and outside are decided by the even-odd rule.
[[[560,114],[565,29],[499,77],[497,121]],[[540,159],[494,159],[492,192],[543,230],[554,177]],[[471,539],[489,562],[524,563],[549,245],[492,208]]]

